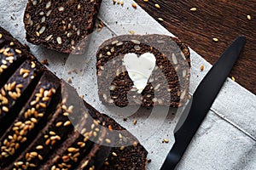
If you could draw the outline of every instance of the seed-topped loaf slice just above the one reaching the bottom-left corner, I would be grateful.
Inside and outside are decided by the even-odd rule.
[[[15,120],[41,77],[44,67],[35,60],[26,60],[0,89],[0,135]]]

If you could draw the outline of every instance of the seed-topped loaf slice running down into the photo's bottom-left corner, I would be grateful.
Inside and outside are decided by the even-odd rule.
[[[0,151],[4,155],[0,155],[2,168],[14,161],[27,144],[32,142],[38,131],[45,126],[57,105],[56,101],[59,97],[55,92],[59,86],[60,80],[49,71],[45,71],[15,122],[0,138]]]

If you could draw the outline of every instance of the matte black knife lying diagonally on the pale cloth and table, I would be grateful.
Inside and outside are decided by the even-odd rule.
[[[201,122],[210,110],[214,99],[229,76],[233,65],[236,63],[242,48],[246,43],[245,37],[237,37],[234,42],[220,56],[218,61],[207,72],[193,97],[186,105],[183,115],[180,117],[174,129],[175,143],[168,153],[161,170],[172,170],[181,160]]]

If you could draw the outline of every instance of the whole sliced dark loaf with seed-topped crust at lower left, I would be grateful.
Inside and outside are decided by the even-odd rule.
[[[0,169],[115,169],[124,156],[123,169],[130,163],[145,169],[148,152],[131,133],[80,99],[1,27],[0,35],[2,59],[15,58],[0,72]],[[21,53],[8,54],[15,49]]]

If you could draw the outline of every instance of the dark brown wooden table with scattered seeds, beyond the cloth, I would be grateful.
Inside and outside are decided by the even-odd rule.
[[[230,77],[235,77],[236,82],[256,94],[256,0],[136,2],[211,64],[237,36],[247,37],[246,47]],[[155,4],[159,4],[160,8]],[[213,41],[213,37],[218,38],[218,42]]]

